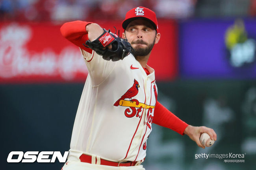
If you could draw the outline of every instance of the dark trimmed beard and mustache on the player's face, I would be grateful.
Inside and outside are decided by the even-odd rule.
[[[154,41],[152,44],[147,44],[143,40],[136,40],[132,42],[132,44],[145,44],[148,45],[146,48],[141,48],[141,47],[135,47],[134,51],[132,52],[134,54],[134,57],[144,57],[150,53],[150,51],[153,49],[154,44],[155,44],[156,38],[154,38]]]

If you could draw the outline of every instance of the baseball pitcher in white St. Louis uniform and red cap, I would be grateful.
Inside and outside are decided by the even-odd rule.
[[[154,69],[147,65],[160,40],[156,14],[135,7],[122,27],[119,38],[96,23],[61,26],[62,35],[80,48],[89,71],[62,170],[145,170],[141,163],[152,123],[186,134],[202,148],[201,133],[217,139],[212,129],[188,125],[157,101]]]

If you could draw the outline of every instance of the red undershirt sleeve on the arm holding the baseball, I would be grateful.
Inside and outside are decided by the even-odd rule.
[[[158,124],[165,128],[174,130],[181,135],[184,135],[184,130],[188,124],[180,120],[176,115],[167,110],[160,102],[156,101],[156,107],[154,110],[154,118],[152,121],[154,124]]]

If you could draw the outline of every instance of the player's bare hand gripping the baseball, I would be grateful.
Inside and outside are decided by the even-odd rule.
[[[211,140],[216,141],[217,140],[217,135],[214,132],[213,129],[207,128],[205,126],[187,126],[185,129],[184,133],[190,137],[193,141],[197,143],[197,145],[201,148],[205,148],[201,143],[200,143],[200,135],[202,133],[208,133],[208,135],[211,137]]]

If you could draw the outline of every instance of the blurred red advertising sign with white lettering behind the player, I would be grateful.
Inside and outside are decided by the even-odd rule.
[[[112,32],[117,26],[123,32],[118,27],[120,21],[97,23]],[[78,47],[61,36],[60,27],[51,23],[0,24],[0,83],[85,82],[85,61]],[[159,27],[161,39],[148,65],[155,69],[157,80],[170,80],[177,74],[176,24],[163,21]]]

